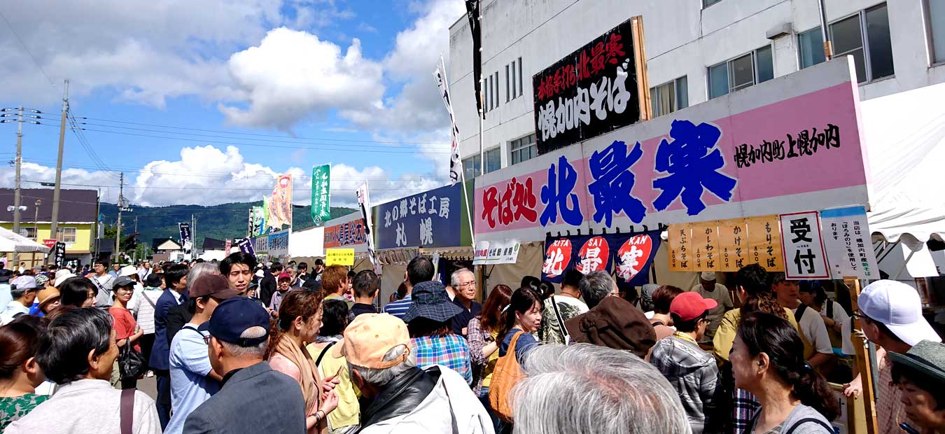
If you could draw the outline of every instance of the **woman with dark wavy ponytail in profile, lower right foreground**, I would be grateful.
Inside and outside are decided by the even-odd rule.
[[[746,434],[829,434],[838,404],[827,380],[804,360],[798,329],[788,321],[751,312],[738,324],[731,351],[735,387],[758,397],[761,409]]]

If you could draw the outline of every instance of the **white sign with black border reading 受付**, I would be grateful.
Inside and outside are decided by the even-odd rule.
[[[829,279],[827,253],[816,211],[782,214],[781,242],[788,279]]]

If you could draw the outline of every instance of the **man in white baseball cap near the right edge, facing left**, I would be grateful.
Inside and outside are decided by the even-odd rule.
[[[863,333],[870,342],[881,348],[876,351],[880,373],[876,391],[876,422],[879,432],[899,432],[899,424],[907,421],[900,391],[892,385],[892,363],[886,352],[905,354],[920,340],[941,342],[941,338],[922,318],[922,302],[919,292],[912,286],[893,280],[880,280],[869,284],[857,300],[860,311],[853,317],[860,318]],[[847,396],[859,395],[863,389],[862,374],[845,385]],[[915,425],[915,424],[910,424]]]

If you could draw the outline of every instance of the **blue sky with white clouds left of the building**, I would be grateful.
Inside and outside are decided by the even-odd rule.
[[[148,205],[259,200],[286,171],[307,203],[305,176],[328,163],[336,204],[366,180],[375,202],[446,182],[448,117],[430,73],[462,0],[81,3],[0,11],[0,107],[47,124],[24,126],[24,180],[54,177],[69,78],[85,130],[66,131],[63,185],[101,186],[103,200],[122,170],[126,197]],[[5,161],[15,130],[0,124]]]

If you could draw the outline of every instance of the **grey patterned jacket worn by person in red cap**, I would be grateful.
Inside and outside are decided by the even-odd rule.
[[[653,364],[679,393],[693,434],[718,432],[718,366],[715,357],[699,348],[689,336],[676,333],[657,341],[650,355]]]

